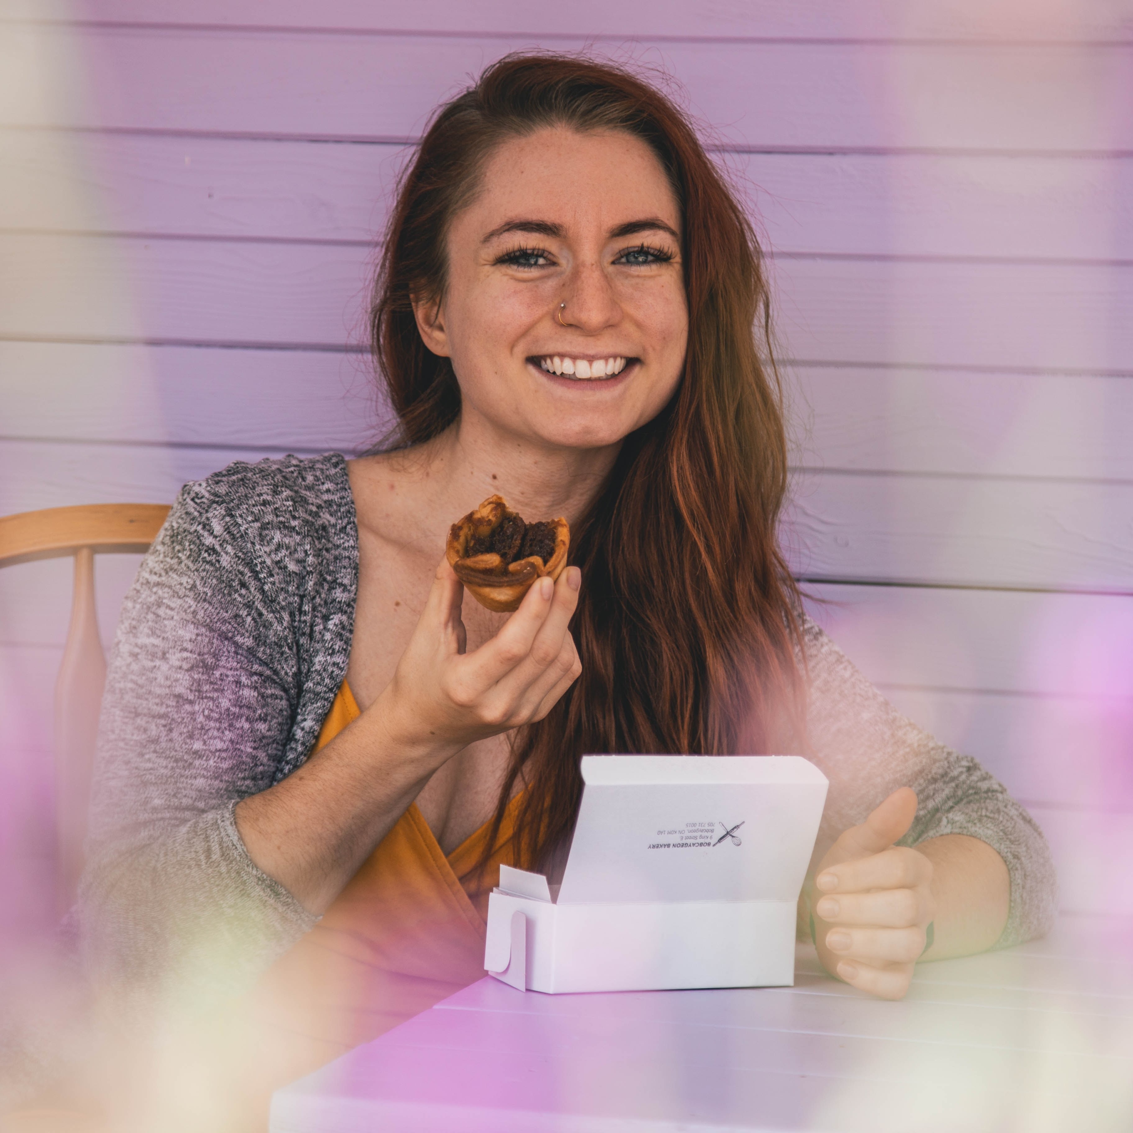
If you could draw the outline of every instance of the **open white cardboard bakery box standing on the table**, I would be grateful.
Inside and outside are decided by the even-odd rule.
[[[561,885],[501,867],[484,966],[534,991],[786,986],[826,801],[801,756],[585,756]]]

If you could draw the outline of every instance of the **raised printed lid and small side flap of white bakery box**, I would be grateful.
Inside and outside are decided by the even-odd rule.
[[[562,886],[502,867],[500,887],[557,904],[794,901],[826,801],[801,756],[585,756]]]

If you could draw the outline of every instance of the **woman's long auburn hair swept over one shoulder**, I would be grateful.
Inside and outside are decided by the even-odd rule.
[[[370,309],[398,417],[390,446],[428,441],[460,415],[455,374],[421,341],[412,299],[444,295],[449,224],[486,157],[545,127],[624,130],[656,154],[683,216],[689,338],[672,400],[624,440],[571,533],[582,674],[514,734],[482,866],[519,776],[512,852],[539,866],[573,828],[587,752],[804,743],[799,591],[776,538],[787,451],[763,257],[692,126],[650,84],[610,62],[512,54],[440,108],[402,177]]]

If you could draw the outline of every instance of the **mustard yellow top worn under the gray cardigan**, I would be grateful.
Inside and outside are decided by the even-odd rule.
[[[359,715],[343,682],[315,750]],[[514,863],[514,810],[513,799],[496,851],[478,877],[472,869],[489,824],[445,855],[410,804],[322,920],[275,962],[257,996],[261,1017],[307,1040],[304,1068],[375,1038],[484,976],[488,895],[499,884],[500,863]]]

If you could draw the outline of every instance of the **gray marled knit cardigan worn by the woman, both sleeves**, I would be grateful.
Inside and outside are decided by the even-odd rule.
[[[180,493],[111,655],[76,910],[93,976],[235,990],[314,925],[253,863],[233,809],[309,755],[346,676],[357,585],[342,457],[235,463]],[[987,842],[1011,874],[999,946],[1043,932],[1055,876],[1030,816],[902,717],[812,622],[806,648],[812,758],[830,782],[816,854],[912,786],[904,842]]]

